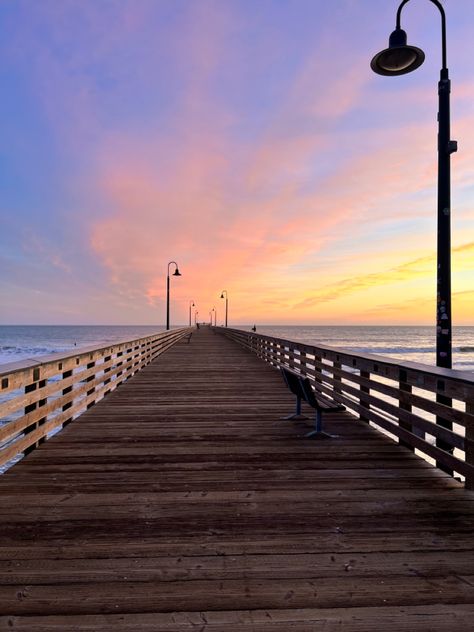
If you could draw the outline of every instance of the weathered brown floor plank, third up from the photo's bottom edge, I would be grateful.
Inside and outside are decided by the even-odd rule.
[[[377,551],[375,553],[293,553],[193,555],[15,560],[0,568],[0,584],[55,584],[107,582],[175,582],[246,579],[337,579],[342,572],[354,577],[446,577],[472,573],[464,551]]]

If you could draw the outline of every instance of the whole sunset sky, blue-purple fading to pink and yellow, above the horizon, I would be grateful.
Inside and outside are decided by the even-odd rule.
[[[474,2],[444,0],[453,325],[474,325]],[[440,15],[0,0],[0,324],[434,325]],[[174,266],[170,267],[173,271]],[[194,319],[194,318],[193,318]]]

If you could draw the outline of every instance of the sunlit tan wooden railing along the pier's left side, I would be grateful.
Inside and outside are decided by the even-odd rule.
[[[0,365],[0,466],[34,450],[189,331]]]

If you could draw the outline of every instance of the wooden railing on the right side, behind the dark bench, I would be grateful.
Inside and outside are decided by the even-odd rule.
[[[215,328],[274,367],[307,375],[402,445],[474,489],[474,375],[373,354],[354,355],[238,329]]]

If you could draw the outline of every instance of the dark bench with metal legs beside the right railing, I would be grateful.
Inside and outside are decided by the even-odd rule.
[[[305,437],[312,439],[331,438],[333,435],[323,432],[323,413],[340,413],[346,410],[346,407],[330,400],[321,393],[318,393],[316,396],[310,379],[305,375],[295,373],[285,367],[281,367],[281,372],[288,388],[296,395],[296,413],[290,415],[287,419],[296,419],[298,417],[301,419],[301,400],[304,399],[315,410],[314,430],[308,432]]]

